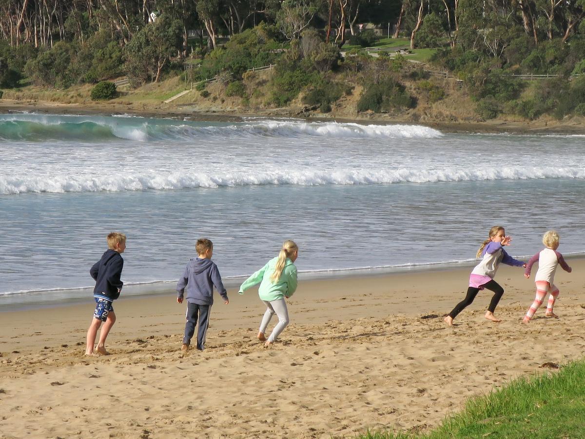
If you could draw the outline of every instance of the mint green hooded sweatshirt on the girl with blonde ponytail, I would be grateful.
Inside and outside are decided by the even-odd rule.
[[[292,263],[292,260],[287,258],[283,272],[280,273],[280,278],[277,282],[272,283],[270,276],[274,273],[277,260],[278,256],[270,259],[260,270],[248,277],[240,286],[238,293],[243,294],[243,291],[260,283],[258,295],[261,300],[273,301],[283,297],[291,297],[297,289],[297,267]]]

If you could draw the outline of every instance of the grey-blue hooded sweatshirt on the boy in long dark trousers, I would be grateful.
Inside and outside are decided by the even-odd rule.
[[[211,259],[193,258],[185,267],[183,276],[177,282],[177,297],[183,299],[187,290],[187,302],[198,305],[214,304],[214,286],[223,300],[228,300],[218,266]]]

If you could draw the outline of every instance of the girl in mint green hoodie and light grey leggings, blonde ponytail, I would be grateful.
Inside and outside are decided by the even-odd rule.
[[[291,297],[297,289],[297,267],[294,262],[298,257],[298,246],[294,241],[284,241],[283,248],[276,258],[270,259],[260,270],[248,277],[240,286],[238,294],[260,283],[258,295],[266,304],[266,313],[260,323],[258,339],[265,341],[264,347],[269,348],[288,325],[288,310],[285,298]],[[278,316],[278,324],[266,339],[264,332],[272,316]]]

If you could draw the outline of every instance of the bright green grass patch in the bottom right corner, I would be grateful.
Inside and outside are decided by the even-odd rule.
[[[585,361],[559,372],[522,377],[486,396],[427,434],[367,432],[359,439],[585,437]]]

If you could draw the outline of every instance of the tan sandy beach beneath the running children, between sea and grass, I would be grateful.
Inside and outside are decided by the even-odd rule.
[[[469,269],[300,282],[273,349],[254,337],[254,290],[216,300],[207,349],[180,352],[185,305],[116,301],[109,356],[85,357],[93,306],[0,313],[0,437],[353,437],[366,428],[426,431],[509,380],[585,349],[585,260],[558,270],[559,319],[536,313],[522,269],[501,267],[491,293],[448,328]],[[423,318],[429,314],[439,317]],[[271,326],[276,323],[273,321]]]

